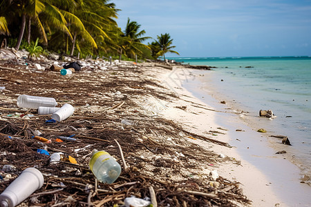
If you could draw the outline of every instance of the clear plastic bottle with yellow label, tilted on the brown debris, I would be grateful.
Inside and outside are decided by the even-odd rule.
[[[102,183],[112,184],[121,173],[120,164],[108,152],[93,150],[89,166]]]

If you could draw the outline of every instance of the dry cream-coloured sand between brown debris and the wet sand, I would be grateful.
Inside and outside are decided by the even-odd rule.
[[[162,79],[170,79],[171,83],[176,83],[175,86],[171,86],[170,88],[174,88],[174,90],[182,97],[182,99],[189,99],[193,103],[200,104],[203,106],[202,108],[211,108],[204,101],[194,97],[184,86],[182,86],[182,81],[185,81],[185,73],[180,72],[178,74],[178,69],[176,69],[176,76],[174,77],[174,72],[167,72]],[[187,101],[189,101],[187,100]],[[185,101],[184,101],[185,103]],[[176,103],[178,104],[178,103]],[[211,129],[223,128],[222,125],[218,124],[216,121],[217,113],[212,110],[204,110],[202,108],[196,108],[193,106],[189,108],[187,106],[186,112],[165,112],[165,117],[169,117],[171,119],[189,122],[188,128],[191,128],[192,131],[204,135],[206,132],[209,132]],[[190,112],[190,114],[189,114]],[[192,116],[196,114],[196,118],[194,119]],[[198,118],[199,116],[199,118]],[[206,118],[208,117],[208,120]],[[218,130],[222,131],[222,130]],[[227,131],[222,131],[227,134]],[[230,137],[228,135],[218,134],[218,136],[214,136],[221,141],[230,141]],[[266,184],[269,181],[266,179],[265,175],[254,167],[249,162],[242,159],[241,156],[236,152],[234,148],[223,148],[221,146],[207,144],[204,141],[196,141],[197,144],[204,148],[209,148],[209,150],[213,150],[218,154],[223,154],[227,157],[234,157],[234,159],[241,161],[242,166],[234,165],[234,164],[224,164],[218,168],[220,176],[230,177],[232,180],[236,180],[241,183],[241,188],[243,188],[243,193],[247,196],[247,198],[253,201],[252,206],[274,206],[276,204],[281,204],[281,206],[286,206],[279,197],[276,196],[274,191],[267,187]],[[247,172],[247,173],[245,173]],[[256,177],[256,179],[254,179]],[[254,192],[254,186],[256,186],[256,192]]]

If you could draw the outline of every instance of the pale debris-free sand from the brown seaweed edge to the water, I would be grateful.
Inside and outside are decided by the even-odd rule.
[[[219,108],[207,106],[206,102],[211,101],[211,97],[204,97],[204,103],[194,97],[191,92],[182,88],[182,81],[191,79],[189,70],[157,70],[156,73],[162,84],[173,90],[173,92],[176,92],[176,95],[180,97],[180,99],[176,99],[176,101],[171,103],[159,103],[158,108],[160,110],[158,112],[161,115],[167,119],[181,123],[184,128],[198,135],[229,142],[232,146],[236,146],[234,148],[227,148],[225,146],[211,144],[207,141],[189,139],[196,144],[209,148],[209,150],[214,150],[214,152],[228,157],[234,157],[236,160],[241,161],[241,166],[223,164],[217,170],[220,176],[241,183],[244,195],[253,201],[252,206],[309,206],[311,204],[309,198],[311,194],[308,194],[311,188],[299,184],[298,168],[283,159],[283,157],[277,157],[271,148],[267,148],[265,139],[261,137],[260,133],[247,128],[247,126],[237,121],[236,119],[238,118],[236,117],[238,115],[234,117],[227,115],[225,112],[213,111],[213,109],[225,111],[225,106],[220,106],[223,105],[220,103]],[[182,110],[176,108],[176,106],[184,106],[186,109]],[[218,124],[219,119],[222,119],[223,123],[231,122],[231,124],[220,126]],[[218,128],[226,128],[227,131]],[[236,132],[235,129],[241,129],[243,132]],[[226,135],[207,135],[209,130],[225,132]],[[252,140],[256,141],[247,141],[249,137],[252,137]],[[242,156],[248,156],[250,159],[247,160],[251,160],[252,164],[243,159]],[[258,165],[256,162],[258,162]],[[258,166],[261,166],[261,170],[258,169]],[[267,173],[263,173],[265,167],[267,167],[265,172],[271,171],[272,176],[267,177]],[[211,167],[207,170],[214,170],[214,168]],[[275,175],[274,173],[278,174]],[[284,188],[294,189],[285,190]],[[295,192],[295,189],[297,189],[297,192]]]

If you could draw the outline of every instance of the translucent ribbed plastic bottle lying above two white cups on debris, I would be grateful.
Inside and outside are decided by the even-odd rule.
[[[34,97],[30,95],[19,95],[17,97],[17,106],[23,108],[39,108],[39,106],[55,107],[57,102],[50,97]]]

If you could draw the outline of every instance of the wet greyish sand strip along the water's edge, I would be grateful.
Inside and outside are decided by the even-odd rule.
[[[184,79],[183,84],[185,85],[185,90],[190,91],[194,97],[203,103],[212,103],[211,106],[216,109],[226,111],[223,115],[218,114],[218,118],[216,118],[215,122],[221,126],[227,126],[227,128],[230,129],[228,133],[229,144],[236,146],[235,156],[239,157],[242,162],[246,161],[247,164],[251,165],[252,168],[255,168],[256,170],[259,170],[259,173],[262,173],[263,176],[266,177],[266,186],[272,188],[272,191],[278,196],[278,199],[281,199],[281,206],[309,206],[311,200],[305,195],[311,193],[311,188],[308,184],[300,184],[301,170],[298,166],[294,165],[292,161],[289,161],[288,155],[275,155],[275,149],[271,148],[268,143],[270,140],[268,140],[265,135],[256,132],[256,130],[243,123],[243,121],[245,121],[243,119],[243,117],[245,117],[243,113],[240,115],[234,114],[234,112],[238,110],[234,110],[232,105],[228,108],[227,104],[220,103],[219,99],[216,100],[217,95],[215,96],[215,89],[204,88],[200,85],[201,73],[211,75],[211,71],[200,72],[200,70],[189,70],[187,72],[189,72],[190,77],[196,77],[196,80],[199,79],[199,81],[194,83],[194,79],[193,81]],[[185,74],[185,72],[183,73]],[[213,97],[211,97],[212,94]],[[241,110],[239,111],[241,112]],[[236,129],[242,129],[243,132],[235,132]],[[249,140],[249,137],[254,137],[255,139]],[[240,176],[238,180],[243,180],[243,177]],[[284,181],[286,181],[286,184],[284,184]],[[255,183],[254,186],[257,186],[258,183]],[[291,190],[291,188],[294,190]],[[252,193],[247,192],[249,190],[252,191],[252,184],[245,186],[245,189],[246,194]],[[252,196],[256,197],[256,195]],[[297,204],[291,199],[292,197],[298,198],[301,202]],[[259,201],[257,205],[263,204]]]

